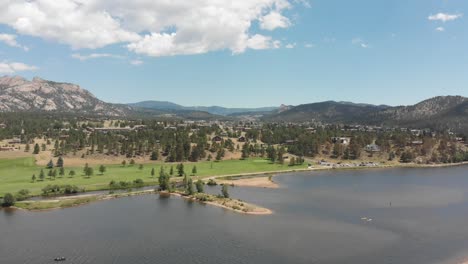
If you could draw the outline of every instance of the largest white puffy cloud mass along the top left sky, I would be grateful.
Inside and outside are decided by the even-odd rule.
[[[254,34],[291,25],[295,0],[0,0],[0,24],[19,34],[96,49],[124,43],[138,54],[242,53],[280,45]]]

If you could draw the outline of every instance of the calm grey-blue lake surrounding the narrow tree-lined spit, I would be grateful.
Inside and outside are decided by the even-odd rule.
[[[230,188],[270,216],[158,195],[4,209],[0,263],[458,263],[468,257],[467,172],[332,170],[279,175],[278,189]]]

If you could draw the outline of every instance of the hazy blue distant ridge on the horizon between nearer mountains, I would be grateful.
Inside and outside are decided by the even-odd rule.
[[[259,107],[259,108],[227,108],[222,106],[182,106],[179,104],[167,101],[142,101],[138,103],[128,104],[132,107],[148,108],[156,110],[190,110],[190,111],[203,111],[213,115],[228,116],[239,113],[254,113],[254,112],[270,112],[278,109],[279,107]]]

